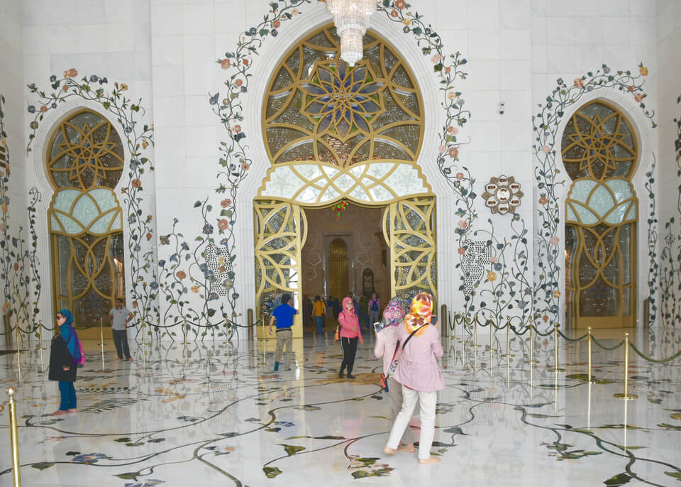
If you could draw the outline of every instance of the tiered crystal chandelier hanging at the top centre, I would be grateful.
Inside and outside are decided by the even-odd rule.
[[[341,59],[354,66],[364,56],[362,37],[376,11],[376,0],[326,0],[326,10],[341,37]]]

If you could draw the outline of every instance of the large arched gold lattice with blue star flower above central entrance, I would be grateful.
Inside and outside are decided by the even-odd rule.
[[[328,25],[284,55],[262,107],[262,135],[272,164],[416,162],[423,138],[416,77],[372,31],[364,36],[364,53],[349,67],[340,59],[336,28]]]

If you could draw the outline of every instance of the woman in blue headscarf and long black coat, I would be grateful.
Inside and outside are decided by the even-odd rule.
[[[50,348],[50,381],[59,381],[62,400],[53,416],[77,412],[76,409],[76,368],[82,366],[83,354],[78,334],[73,327],[73,314],[69,310],[57,312],[59,333],[52,339]]]

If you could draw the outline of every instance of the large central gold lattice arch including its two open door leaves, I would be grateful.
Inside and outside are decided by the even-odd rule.
[[[342,199],[384,207],[393,295],[436,295],[435,195],[417,164],[421,93],[380,35],[367,31],[364,53],[348,66],[329,24],[289,49],[267,84],[262,136],[271,167],[253,203],[257,310],[265,322],[281,292],[299,295],[304,207]],[[347,266],[338,252],[331,260]],[[338,295],[348,291],[339,285]],[[294,336],[302,336],[297,320]],[[258,335],[270,338],[264,327]]]

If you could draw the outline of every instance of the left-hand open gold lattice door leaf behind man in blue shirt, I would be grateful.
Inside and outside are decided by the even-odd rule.
[[[292,306],[300,301],[301,249],[307,236],[307,220],[301,207],[287,202],[255,200],[255,302],[258,319],[270,319],[283,293]],[[294,336],[302,336],[301,314],[294,317]],[[258,336],[268,337],[265,327]]]

